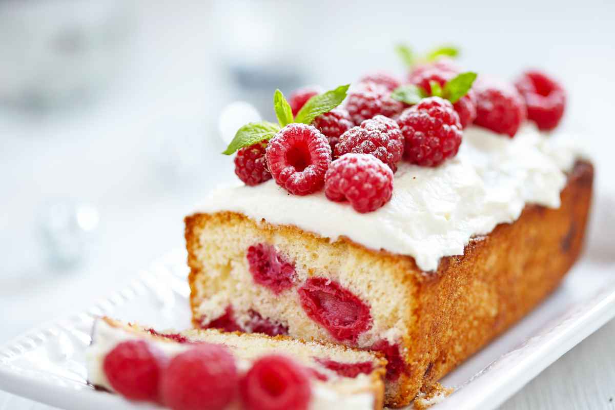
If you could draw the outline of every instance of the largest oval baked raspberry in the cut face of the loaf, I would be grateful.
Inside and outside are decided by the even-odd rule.
[[[371,328],[370,308],[339,283],[328,278],[309,278],[297,291],[308,317],[320,323],[337,341],[356,342],[361,333]]]

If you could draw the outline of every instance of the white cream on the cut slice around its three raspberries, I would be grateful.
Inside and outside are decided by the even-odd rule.
[[[103,361],[106,355],[113,350],[118,344],[129,340],[142,340],[143,337],[136,333],[130,333],[122,328],[116,328],[109,325],[104,320],[95,321],[92,329],[92,343],[85,351],[85,364],[87,368],[87,381],[95,386],[104,387],[110,392],[114,392],[113,387],[109,384],[109,380],[103,370]],[[150,341],[156,345],[156,348],[161,350],[167,357],[171,358],[181,352],[185,352],[191,348],[191,345],[180,344],[175,342]],[[240,373],[248,371],[252,365],[250,361],[236,357],[237,369]],[[326,382],[313,380],[312,396],[308,406],[309,410],[373,410],[374,396],[368,391],[370,386],[370,376],[360,374],[352,380],[349,387],[356,388],[356,385],[365,385],[365,392],[360,393],[341,393],[340,391],[331,388]],[[338,388],[343,390],[344,384]],[[241,410],[244,407],[239,400],[234,400],[229,404],[226,410]]]

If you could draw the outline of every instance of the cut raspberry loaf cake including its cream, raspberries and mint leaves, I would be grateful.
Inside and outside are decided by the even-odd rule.
[[[243,184],[185,219],[192,321],[382,352],[401,407],[557,287],[593,168],[545,132],[565,104],[546,74],[369,78],[315,117],[347,87],[294,117],[278,91],[279,126],[240,128],[225,153]]]

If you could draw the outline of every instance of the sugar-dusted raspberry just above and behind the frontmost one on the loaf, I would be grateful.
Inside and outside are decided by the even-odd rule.
[[[335,156],[341,157],[348,152],[371,154],[395,172],[403,155],[403,135],[399,125],[384,116],[363,121],[360,127],[351,128],[339,137]]]

